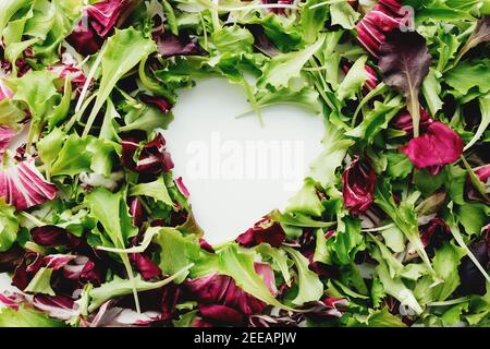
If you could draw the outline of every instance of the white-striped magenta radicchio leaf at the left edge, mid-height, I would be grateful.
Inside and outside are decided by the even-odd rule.
[[[53,200],[56,195],[57,188],[44,179],[34,160],[0,171],[0,196],[20,210]]]

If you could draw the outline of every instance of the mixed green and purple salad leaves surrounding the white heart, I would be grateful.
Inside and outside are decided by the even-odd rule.
[[[0,37],[0,326],[490,325],[490,1],[1,0]],[[326,127],[219,246],[159,131],[211,75]]]

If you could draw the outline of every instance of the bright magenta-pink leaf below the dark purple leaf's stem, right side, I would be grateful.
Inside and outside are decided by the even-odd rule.
[[[421,136],[412,139],[401,151],[418,169],[433,168],[456,161],[463,153],[461,136],[446,124],[436,121]]]

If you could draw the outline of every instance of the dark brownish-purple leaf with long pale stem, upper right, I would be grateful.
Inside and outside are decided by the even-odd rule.
[[[429,73],[431,60],[426,39],[418,33],[392,32],[380,48],[379,69],[383,81],[405,97],[415,137],[419,135],[420,85]]]

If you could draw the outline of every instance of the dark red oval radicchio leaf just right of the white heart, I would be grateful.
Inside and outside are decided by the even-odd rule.
[[[345,207],[353,215],[365,213],[375,197],[376,173],[370,164],[357,158],[342,174]]]

